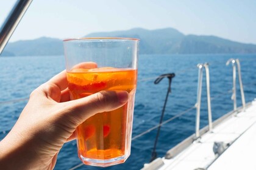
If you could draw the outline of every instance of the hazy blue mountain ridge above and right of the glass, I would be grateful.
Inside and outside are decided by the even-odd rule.
[[[85,37],[98,36],[139,38],[140,53],[256,53],[255,44],[244,44],[217,36],[183,35],[172,28],[91,33]]]

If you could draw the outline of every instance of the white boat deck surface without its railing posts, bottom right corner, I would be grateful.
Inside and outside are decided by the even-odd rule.
[[[255,153],[256,102],[253,101],[245,112],[226,118],[176,156],[157,158],[143,169],[256,169]]]

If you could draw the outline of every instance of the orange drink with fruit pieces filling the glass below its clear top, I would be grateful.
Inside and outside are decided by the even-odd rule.
[[[109,160],[130,155],[132,117],[137,70],[77,69],[67,72],[71,100],[87,97],[101,90],[126,90],[129,101],[124,106],[110,112],[102,112],[88,118],[76,129],[78,154],[85,164],[93,160]],[[104,161],[104,162],[105,162]]]

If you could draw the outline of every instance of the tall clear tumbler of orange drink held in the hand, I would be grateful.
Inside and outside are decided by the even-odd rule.
[[[85,165],[111,166],[130,155],[137,86],[138,39],[80,38],[63,41],[71,100],[101,90],[126,90],[124,106],[88,118],[76,129],[77,150]]]

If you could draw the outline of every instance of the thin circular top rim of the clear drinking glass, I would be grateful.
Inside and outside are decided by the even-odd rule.
[[[88,38],[67,38],[63,39],[63,42],[66,41],[79,41],[79,40],[127,40],[127,41],[140,41],[138,38],[122,38],[122,37],[88,37]]]

